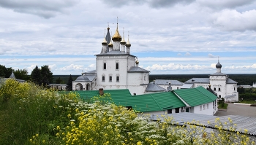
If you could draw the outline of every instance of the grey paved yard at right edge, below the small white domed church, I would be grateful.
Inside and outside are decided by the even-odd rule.
[[[238,105],[228,103],[227,111],[217,111],[215,116],[241,115],[245,117],[256,117],[256,106]]]

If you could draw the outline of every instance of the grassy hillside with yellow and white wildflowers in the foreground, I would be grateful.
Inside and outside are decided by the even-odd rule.
[[[216,131],[208,132],[200,122],[177,125],[165,115],[151,122],[112,103],[110,94],[83,101],[75,92],[0,80],[0,144],[255,144],[230,119],[217,118]]]

